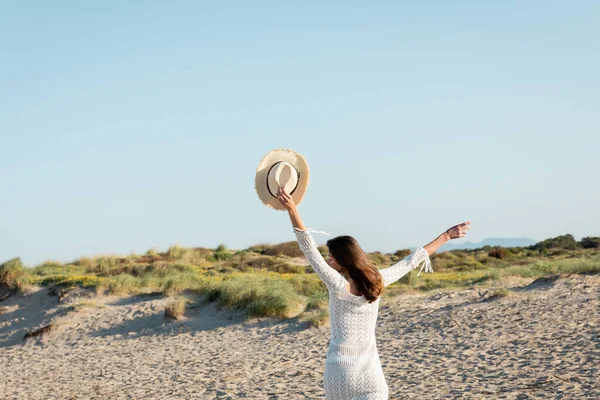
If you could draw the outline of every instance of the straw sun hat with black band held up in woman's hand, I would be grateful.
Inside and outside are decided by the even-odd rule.
[[[308,164],[299,153],[290,149],[270,151],[256,169],[256,193],[266,206],[285,210],[277,199],[277,189],[282,187],[300,204],[308,187],[308,175]]]

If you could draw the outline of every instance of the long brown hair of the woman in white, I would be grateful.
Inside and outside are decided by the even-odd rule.
[[[383,291],[383,279],[356,239],[352,236],[338,236],[328,240],[327,247],[329,254],[348,271],[348,275],[369,303],[377,300]]]

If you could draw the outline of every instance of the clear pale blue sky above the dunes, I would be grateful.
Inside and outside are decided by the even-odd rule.
[[[598,236],[598,71],[595,0],[5,2],[0,262],[293,240],[278,147],[367,251]]]

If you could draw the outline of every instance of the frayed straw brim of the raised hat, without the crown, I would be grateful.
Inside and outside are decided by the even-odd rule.
[[[292,164],[294,168],[296,168],[296,171],[298,171],[298,185],[291,193],[292,199],[296,205],[300,204],[306,194],[306,189],[308,188],[308,163],[302,155],[290,149],[276,149],[270,151],[263,157],[258,164],[258,168],[256,168],[254,187],[263,204],[275,210],[285,210],[285,207],[283,207],[277,197],[269,192],[267,176],[271,167],[280,161],[286,161]]]

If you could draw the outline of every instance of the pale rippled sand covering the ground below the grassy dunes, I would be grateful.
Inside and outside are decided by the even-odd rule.
[[[328,327],[48,288],[0,302],[3,399],[318,399]],[[53,330],[24,340],[52,323]],[[600,398],[600,277],[383,298],[391,399]]]

